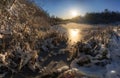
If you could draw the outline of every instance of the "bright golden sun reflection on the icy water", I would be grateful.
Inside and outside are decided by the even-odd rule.
[[[69,29],[68,34],[69,34],[70,44],[74,44],[80,41],[81,38],[80,29]]]

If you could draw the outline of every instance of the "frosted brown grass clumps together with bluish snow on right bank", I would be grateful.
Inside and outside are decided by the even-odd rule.
[[[87,42],[78,44],[79,58],[71,63],[71,67],[98,78],[119,78],[119,27],[107,27],[97,33]]]

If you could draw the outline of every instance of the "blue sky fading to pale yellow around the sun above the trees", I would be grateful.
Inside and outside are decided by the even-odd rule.
[[[68,19],[87,12],[101,12],[104,9],[120,11],[120,0],[35,0],[35,3],[51,16]]]

